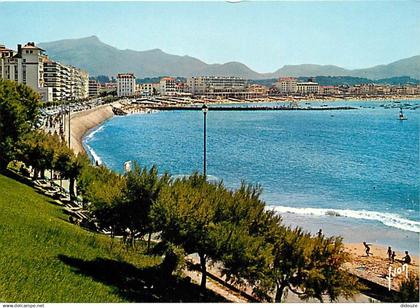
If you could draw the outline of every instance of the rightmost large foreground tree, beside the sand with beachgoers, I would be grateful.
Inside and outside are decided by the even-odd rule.
[[[356,278],[342,266],[349,261],[340,237],[311,236],[300,228],[281,227],[282,235],[274,242],[274,261],[265,271],[261,288],[274,290],[275,302],[286,291],[306,300],[316,298],[331,302],[339,296],[349,298],[358,292]]]

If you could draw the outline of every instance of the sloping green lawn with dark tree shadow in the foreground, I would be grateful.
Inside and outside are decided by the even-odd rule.
[[[50,198],[0,174],[0,302],[223,301],[179,277],[160,257],[68,222]]]

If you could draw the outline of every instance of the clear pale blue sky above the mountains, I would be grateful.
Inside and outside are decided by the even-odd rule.
[[[91,35],[261,73],[306,63],[366,68],[420,54],[420,2],[0,0],[0,44],[9,48]]]

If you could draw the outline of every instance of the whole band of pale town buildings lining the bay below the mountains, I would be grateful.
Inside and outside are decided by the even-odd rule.
[[[0,78],[14,80],[39,93],[42,101],[63,102],[94,97],[166,97],[188,101],[207,100],[299,100],[375,99],[416,97],[418,82],[401,84],[325,84],[317,78],[281,77],[260,82],[235,76],[191,76],[136,79],[130,72],[114,76],[89,76],[88,72],[50,59],[34,42],[17,50],[0,44]],[[410,80],[410,78],[408,78]]]

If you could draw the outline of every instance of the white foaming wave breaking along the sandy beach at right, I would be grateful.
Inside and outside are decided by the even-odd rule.
[[[420,233],[420,222],[409,220],[398,214],[381,213],[366,210],[341,210],[325,208],[295,208],[288,206],[270,206],[271,209],[279,213],[293,213],[299,215],[348,217],[354,219],[375,220],[386,226]]]

